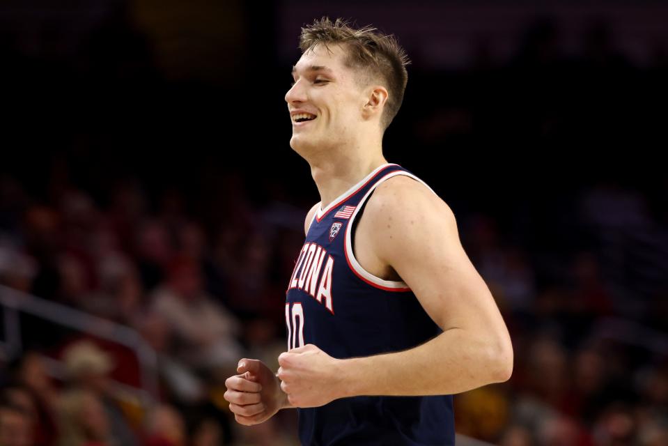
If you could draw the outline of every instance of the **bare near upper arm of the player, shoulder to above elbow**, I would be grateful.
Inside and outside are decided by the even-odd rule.
[[[375,234],[374,245],[433,321],[443,330],[503,324],[460,243],[449,206],[426,189],[399,192],[389,201],[391,223]]]

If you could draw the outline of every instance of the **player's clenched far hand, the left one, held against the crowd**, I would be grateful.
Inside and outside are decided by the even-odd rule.
[[[288,407],[286,394],[279,380],[263,362],[242,359],[237,367],[239,375],[225,380],[224,398],[239,424],[252,426],[269,420],[275,413]]]

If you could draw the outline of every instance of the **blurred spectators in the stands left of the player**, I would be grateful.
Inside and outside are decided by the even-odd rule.
[[[77,189],[34,203],[8,177],[0,191],[1,284],[137,330],[160,374],[147,408],[114,385],[141,385],[127,347],[23,315],[26,352],[4,358],[0,432],[16,432],[6,416],[17,431],[32,426],[35,443],[1,445],[279,444],[289,422],[232,431],[222,394],[241,357],[276,369],[286,349],[284,289],[272,278],[290,273],[293,253],[279,250],[289,237],[267,239],[242,209],[238,223],[209,234],[179,210],[184,197],[164,197],[152,215],[132,185],[119,186],[108,208]],[[49,376],[45,357],[62,362],[63,376]]]

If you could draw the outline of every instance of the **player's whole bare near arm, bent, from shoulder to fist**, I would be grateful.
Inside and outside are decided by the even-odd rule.
[[[357,233],[368,240],[371,259],[396,271],[444,331],[409,350],[371,357],[334,360],[313,346],[283,353],[279,362],[288,373],[283,390],[291,403],[322,402],[293,389],[291,378],[307,382],[328,368],[334,383],[325,397],[329,401],[357,395],[456,394],[508,380],[513,369],[508,330],[464,252],[446,203],[411,178],[390,178],[369,199]],[[311,371],[316,375],[310,376]]]

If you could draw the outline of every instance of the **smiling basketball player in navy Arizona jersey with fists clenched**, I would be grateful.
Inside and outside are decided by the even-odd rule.
[[[286,94],[290,146],[320,192],[288,281],[288,351],[242,359],[225,394],[252,425],[299,408],[303,445],[454,445],[452,394],[511,376],[513,347],[450,208],[382,155],[403,49],[317,20]]]

